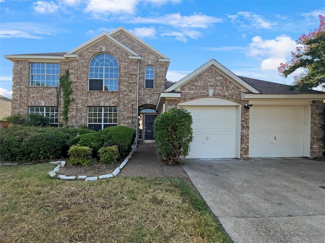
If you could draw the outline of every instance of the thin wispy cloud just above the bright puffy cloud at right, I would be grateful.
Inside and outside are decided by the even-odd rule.
[[[228,17],[232,20],[232,22],[239,23],[241,27],[244,28],[254,27],[258,29],[270,29],[277,25],[277,23],[272,23],[263,19],[260,15],[246,11],[239,11],[234,15],[229,15]],[[248,21],[249,25],[245,24],[245,21]]]

